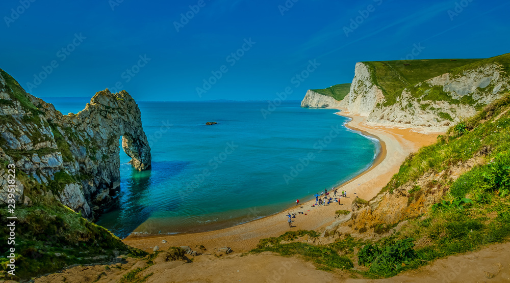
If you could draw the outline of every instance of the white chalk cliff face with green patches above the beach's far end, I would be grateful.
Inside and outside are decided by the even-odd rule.
[[[449,72],[388,94],[365,63],[357,63],[348,96],[341,106],[369,122],[444,127],[473,116],[510,89],[506,69],[488,63],[461,73]],[[396,96],[391,102],[387,96]]]

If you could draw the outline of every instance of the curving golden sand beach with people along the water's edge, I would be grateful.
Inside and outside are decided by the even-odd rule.
[[[149,252],[152,252],[154,246],[166,249],[170,246],[194,247],[196,245],[203,245],[208,249],[228,246],[236,252],[243,252],[256,247],[260,239],[277,237],[287,231],[317,231],[335,221],[335,211],[350,211],[351,203],[356,196],[364,200],[372,199],[398,172],[400,164],[407,155],[417,151],[422,146],[434,143],[437,136],[441,134],[421,133],[415,131],[415,129],[371,124],[367,123],[364,117],[350,115],[345,109],[340,110],[342,111],[338,112],[338,115],[352,119],[345,125],[346,127],[376,137],[381,145],[380,153],[370,168],[337,187],[339,192],[342,190],[347,192],[347,197],[340,199],[340,205],[334,202],[326,206],[312,207],[315,204],[315,200],[313,200],[231,228],[193,234],[131,235],[125,238],[123,242]],[[320,189],[318,188],[317,191],[320,191]],[[255,207],[253,210],[256,211],[257,208]],[[298,214],[298,212],[303,212],[303,214]],[[287,223],[288,213],[296,213],[296,218],[292,218],[292,228],[289,228]],[[166,243],[162,243],[163,240],[166,240]]]

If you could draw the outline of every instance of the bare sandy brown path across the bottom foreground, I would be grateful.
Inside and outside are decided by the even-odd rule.
[[[354,273],[337,270],[317,270],[310,262],[297,257],[285,258],[264,252],[240,257],[239,254],[215,258],[200,256],[193,263],[183,261],[162,262],[142,271],[141,275],[153,273],[147,283],[223,283],[223,282],[314,282],[314,283],[390,283],[390,282],[510,282],[510,243],[495,244],[481,250],[450,256],[430,265],[402,272],[387,279],[355,279]],[[113,266],[113,265],[112,265]],[[113,283],[123,274],[137,267],[146,267],[143,260],[130,260],[120,269],[103,265],[76,266],[59,273],[35,279],[35,283]],[[15,281],[7,281],[7,283]]]

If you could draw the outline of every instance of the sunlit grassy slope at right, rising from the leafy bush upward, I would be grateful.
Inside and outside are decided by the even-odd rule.
[[[439,205],[432,206],[435,209],[424,217],[408,219],[394,235],[396,240],[414,238],[426,243],[415,248],[416,259],[396,271],[378,266],[373,270],[371,266],[372,275],[393,276],[438,258],[510,239],[510,114],[504,112],[508,109],[507,94],[475,117],[451,127],[436,144],[406,158],[383,191],[391,193],[424,174],[449,172],[459,161],[475,155],[479,162],[454,181],[445,174],[440,181],[409,190],[409,197],[418,192],[431,194],[431,188],[447,193]]]

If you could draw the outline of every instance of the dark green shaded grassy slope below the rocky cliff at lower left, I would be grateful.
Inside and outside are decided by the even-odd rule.
[[[3,70],[0,71],[12,90],[8,90],[11,99],[20,101],[21,105],[34,116],[40,114],[40,110],[30,101],[19,83]],[[30,122],[35,121],[41,123],[40,119],[31,119]],[[11,117],[0,116],[0,123],[5,122],[13,122],[13,120]],[[32,136],[31,138],[34,140]],[[2,148],[5,149],[4,144]],[[5,149],[5,151],[9,155],[22,154],[14,150]],[[34,151],[34,153],[40,152]],[[7,171],[7,163],[7,160],[0,160],[0,168]],[[132,256],[145,254],[144,251],[125,245],[108,230],[82,218],[80,214],[48,195],[52,191],[58,193],[56,189],[65,185],[64,179],[72,178],[61,173],[57,173],[55,180],[50,181],[48,185],[42,185],[20,170],[16,171],[16,179],[24,186],[23,194],[30,197],[33,202],[32,206],[17,205],[15,210],[15,216],[18,218],[15,252],[18,278],[55,272],[73,264],[110,261],[115,258],[115,252]],[[44,191],[45,195],[42,195],[40,191]],[[2,206],[0,218],[5,219],[7,216],[10,216],[7,207]],[[6,225],[2,225],[0,234],[8,235],[7,229]],[[11,246],[7,245],[7,241],[0,242],[0,270],[6,270],[9,247]],[[96,256],[106,256],[106,258],[94,260]],[[5,271],[0,271],[0,280],[5,275]]]

